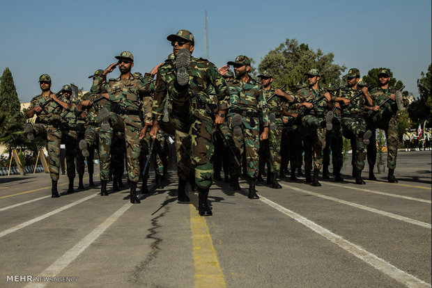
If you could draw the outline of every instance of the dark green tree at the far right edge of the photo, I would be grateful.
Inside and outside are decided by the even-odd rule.
[[[428,72],[422,72],[422,78],[417,79],[417,88],[419,89],[419,98],[411,103],[408,108],[410,117],[413,122],[423,123],[428,121],[427,126],[432,127],[432,100],[431,100],[431,87],[432,86],[432,64],[429,64]],[[416,127],[417,127],[416,126]]]

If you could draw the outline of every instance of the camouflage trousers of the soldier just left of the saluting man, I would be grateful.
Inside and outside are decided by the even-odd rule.
[[[89,151],[91,147],[98,147],[101,180],[108,180],[109,177],[111,159],[109,150],[111,148],[112,134],[113,132],[111,130],[102,131],[100,127],[88,126],[84,135],[84,141],[86,141]]]

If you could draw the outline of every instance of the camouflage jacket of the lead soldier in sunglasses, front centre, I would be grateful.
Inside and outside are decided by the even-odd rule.
[[[206,59],[190,58],[189,95],[192,102],[192,113],[199,118],[210,116],[199,104],[211,104],[212,99],[208,94],[210,85],[215,88],[217,105],[219,110],[229,108],[229,92],[224,77],[217,71],[215,65]],[[176,60],[168,60],[160,66],[156,74],[155,95],[153,96],[153,119],[162,120],[164,106],[167,104],[168,95],[178,95],[174,85],[176,81]],[[171,97],[170,97],[171,98]]]

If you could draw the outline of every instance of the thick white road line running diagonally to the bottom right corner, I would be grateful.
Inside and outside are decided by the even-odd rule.
[[[348,253],[354,255],[359,259],[362,259],[367,264],[373,266],[373,268],[378,269],[378,271],[381,271],[389,277],[393,278],[394,280],[401,282],[403,285],[406,285],[408,287],[431,287],[429,283],[419,280],[415,276],[410,275],[405,271],[402,271],[396,266],[389,264],[384,259],[381,259],[380,257],[369,253],[367,250],[364,250],[360,246],[357,246],[350,241],[347,241],[346,239],[340,237],[339,235],[330,232],[330,230],[325,229],[324,227],[314,223],[313,221],[310,221],[309,219],[304,218],[303,216],[300,216],[299,214],[296,214],[295,212],[288,210],[285,207],[282,207],[261,195],[259,197],[260,200],[265,204],[270,205],[271,207],[281,211],[285,215],[293,218],[295,221],[298,221],[302,225],[308,227],[314,232],[332,241],[339,247],[346,250]]]

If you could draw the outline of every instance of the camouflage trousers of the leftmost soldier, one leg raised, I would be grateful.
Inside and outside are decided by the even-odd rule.
[[[36,131],[36,137],[47,141],[49,176],[54,181],[58,181],[60,177],[60,143],[61,130],[52,125],[36,123],[33,125]]]

